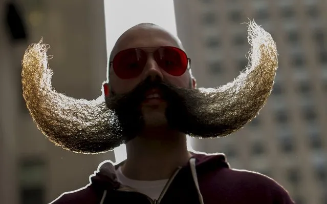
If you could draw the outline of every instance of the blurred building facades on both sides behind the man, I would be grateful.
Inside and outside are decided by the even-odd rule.
[[[105,26],[105,6],[107,0],[0,1],[0,203],[49,203],[88,184],[101,161],[116,160],[114,152],[80,155],[54,146],[33,123],[20,83],[24,51],[43,37],[54,55],[55,89],[97,98],[106,80],[106,33],[115,29]],[[326,204],[327,1],[175,0],[171,8],[198,87],[224,85],[246,67],[248,18],[272,34],[279,52],[260,114],[228,137],[190,139],[192,148],[223,152],[232,168],[270,176],[297,204]]]

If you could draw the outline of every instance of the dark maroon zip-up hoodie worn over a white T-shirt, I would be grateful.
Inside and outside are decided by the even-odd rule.
[[[224,154],[193,156],[168,180],[158,200],[118,182],[111,161],[102,162],[90,176],[90,184],[64,193],[53,204],[200,203],[200,204],[294,204],[288,192],[273,179],[229,167]]]

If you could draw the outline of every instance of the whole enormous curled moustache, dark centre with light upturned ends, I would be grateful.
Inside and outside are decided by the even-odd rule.
[[[223,137],[241,129],[266,104],[277,70],[277,50],[271,35],[249,24],[248,68],[218,88],[186,89],[163,81],[143,81],[127,94],[75,99],[51,86],[48,47],[31,45],[23,58],[21,81],[27,108],[39,130],[55,145],[84,154],[107,152],[144,129],[139,108],[144,93],[158,88],[167,101],[169,128],[197,138]]]

